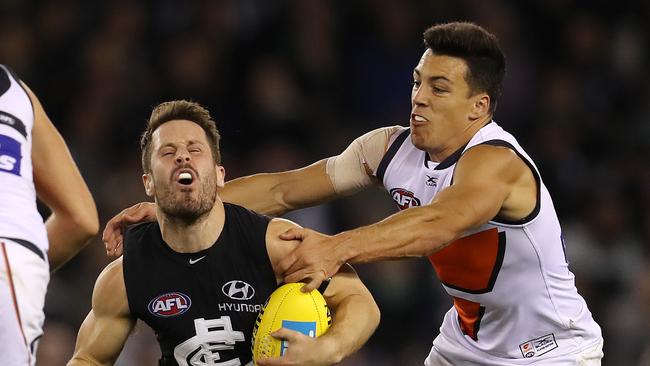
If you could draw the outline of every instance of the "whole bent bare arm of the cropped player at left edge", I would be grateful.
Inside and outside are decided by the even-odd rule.
[[[45,221],[52,271],[77,254],[99,230],[97,208],[65,141],[34,93],[32,160],[38,198],[52,214]]]

